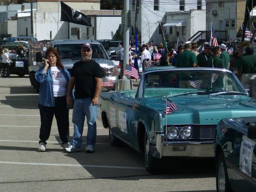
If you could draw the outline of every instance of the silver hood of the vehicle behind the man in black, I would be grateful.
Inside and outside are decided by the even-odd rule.
[[[68,59],[61,59],[62,64],[66,69],[71,69],[73,67],[73,64],[77,61],[80,61],[81,58],[68,58]],[[99,58],[93,58],[92,60],[98,62],[100,67],[102,68],[110,68],[115,67],[114,63],[111,60],[108,59],[99,59]]]

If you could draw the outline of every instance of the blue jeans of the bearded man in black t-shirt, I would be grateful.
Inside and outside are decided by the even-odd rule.
[[[75,99],[73,105],[73,118],[74,134],[73,134],[73,147],[80,148],[82,145],[82,134],[84,130],[85,116],[87,120],[87,146],[96,144],[96,118],[98,106],[92,105],[91,98]]]

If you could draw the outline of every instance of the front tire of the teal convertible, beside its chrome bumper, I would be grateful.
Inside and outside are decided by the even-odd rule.
[[[146,171],[152,174],[158,174],[160,172],[160,159],[155,158],[149,151],[149,139],[145,131],[144,136],[144,157]]]

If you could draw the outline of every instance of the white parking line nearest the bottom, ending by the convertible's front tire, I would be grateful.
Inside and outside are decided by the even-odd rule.
[[[65,166],[65,167],[83,167],[83,168],[121,168],[121,169],[145,169],[142,167],[125,167],[125,166],[105,166],[105,165],[77,165],[77,164],[58,164],[58,163],[26,163],[26,162],[12,162],[0,161],[0,164],[12,165],[41,165],[41,166]]]

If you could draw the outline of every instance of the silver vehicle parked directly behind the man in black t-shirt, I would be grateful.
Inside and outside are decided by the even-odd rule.
[[[118,87],[118,71],[114,63],[108,57],[105,49],[98,41],[94,40],[53,40],[50,45],[55,47],[60,56],[61,61],[68,71],[72,70],[73,64],[81,60],[81,48],[84,43],[90,43],[93,49],[92,60],[99,63],[102,69],[103,77],[110,81],[114,81],[114,86],[106,87],[107,90],[115,90]]]

